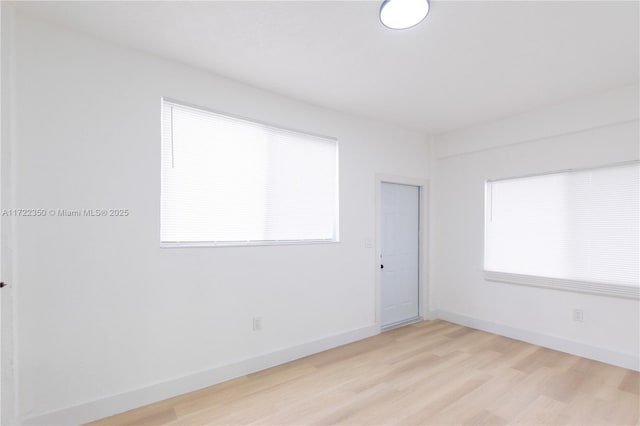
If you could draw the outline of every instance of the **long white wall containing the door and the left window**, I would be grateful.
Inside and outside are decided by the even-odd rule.
[[[216,367],[375,332],[374,255],[364,244],[374,236],[374,176],[425,179],[425,136],[21,14],[16,27],[13,207],[131,211],[15,221],[19,420],[89,420],[203,386]],[[337,137],[341,242],[160,249],[161,96]],[[251,330],[253,316],[263,331]]]

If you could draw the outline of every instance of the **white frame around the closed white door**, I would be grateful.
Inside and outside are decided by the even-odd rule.
[[[429,181],[427,179],[407,176],[376,174],[375,177],[375,326],[379,332],[382,328],[381,306],[381,273],[380,255],[382,253],[382,184],[395,183],[399,185],[411,185],[418,187],[420,196],[419,230],[418,230],[418,319],[429,319]],[[393,327],[391,327],[393,328]]]

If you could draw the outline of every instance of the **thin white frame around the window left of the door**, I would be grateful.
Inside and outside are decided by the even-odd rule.
[[[165,122],[165,104],[175,104],[179,107],[192,108],[203,112],[224,116],[239,121],[246,121],[259,126],[271,127],[280,131],[290,132],[295,134],[302,134],[315,138],[327,139],[335,142],[336,149],[336,188],[335,188],[335,217],[334,217],[334,236],[329,239],[296,239],[296,240],[244,240],[244,241],[163,241],[162,240],[162,180],[163,180],[163,146],[164,146],[164,122]],[[249,118],[246,116],[232,114],[215,110],[212,108],[203,107],[200,105],[192,104],[176,100],[174,98],[163,96],[160,99],[160,221],[159,221],[159,239],[160,248],[203,248],[203,247],[256,247],[256,246],[281,246],[281,245],[323,245],[323,244],[338,244],[340,243],[340,144],[337,137],[326,136],[319,133],[313,133],[308,131],[302,131],[281,125],[269,123],[266,121]]]

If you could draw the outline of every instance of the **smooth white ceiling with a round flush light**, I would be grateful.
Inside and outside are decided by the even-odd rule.
[[[379,1],[25,2],[102,39],[314,104],[439,133],[627,84],[637,1],[434,1],[393,31]]]

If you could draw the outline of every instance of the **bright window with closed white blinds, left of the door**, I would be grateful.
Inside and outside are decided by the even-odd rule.
[[[163,101],[161,245],[338,240],[338,145]]]

